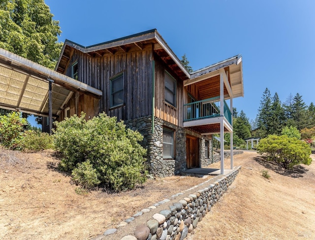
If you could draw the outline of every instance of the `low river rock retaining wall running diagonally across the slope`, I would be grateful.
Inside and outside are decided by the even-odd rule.
[[[188,233],[196,228],[198,222],[211,210],[212,206],[220,200],[223,193],[226,192],[227,188],[235,180],[240,169],[241,167],[235,168],[229,174],[188,196],[185,196],[183,193],[173,195],[172,197],[182,195],[183,198],[168,206],[168,208],[159,211],[159,213],[153,214],[152,218],[146,221],[146,224],[136,226],[133,235],[115,238],[117,229],[109,229],[103,235],[99,235],[93,240],[184,240]],[[188,189],[188,191],[193,190],[193,188]],[[157,206],[169,201],[165,199],[155,206],[137,212],[133,217],[120,223],[117,228],[124,228],[129,222],[136,220],[137,216],[150,214],[150,210],[156,209]]]

